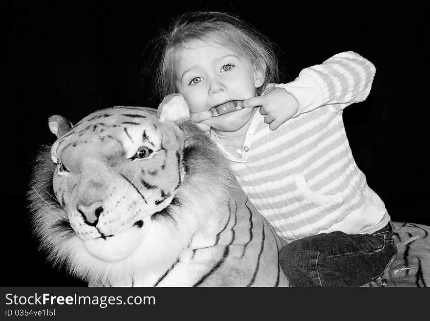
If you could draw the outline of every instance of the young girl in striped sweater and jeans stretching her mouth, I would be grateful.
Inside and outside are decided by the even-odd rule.
[[[353,52],[277,80],[271,43],[228,14],[181,16],[161,38],[158,86],[231,160],[249,199],[288,244],[293,286],[359,286],[396,254],[384,203],[349,148],[342,112],[366,99],[375,67]]]

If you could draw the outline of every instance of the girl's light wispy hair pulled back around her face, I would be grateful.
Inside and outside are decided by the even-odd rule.
[[[193,40],[216,41],[246,56],[260,70],[265,70],[264,84],[278,81],[278,59],[275,44],[249,25],[228,13],[214,11],[189,12],[176,19],[158,39],[159,64],[154,75],[155,88],[161,97],[176,92],[176,54]]]

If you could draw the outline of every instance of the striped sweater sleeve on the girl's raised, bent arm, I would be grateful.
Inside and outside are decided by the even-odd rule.
[[[372,86],[376,68],[366,58],[352,51],[342,52],[301,70],[299,77],[283,87],[299,102],[293,116],[324,105],[340,110],[364,101]]]

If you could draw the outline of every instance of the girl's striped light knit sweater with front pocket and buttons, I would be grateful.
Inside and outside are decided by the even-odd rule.
[[[366,99],[374,75],[374,65],[360,55],[337,54],[276,85],[299,102],[280,128],[271,131],[255,112],[235,154],[212,131],[243,190],[284,239],[372,233],[388,223],[384,203],[352,157],[342,119],[344,107]]]

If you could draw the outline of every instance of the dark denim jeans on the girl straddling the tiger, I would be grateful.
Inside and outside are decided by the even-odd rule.
[[[379,277],[397,254],[391,222],[372,234],[322,233],[280,251],[292,286],[361,286]]]

